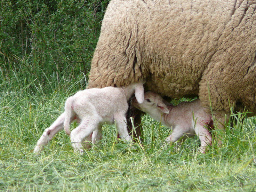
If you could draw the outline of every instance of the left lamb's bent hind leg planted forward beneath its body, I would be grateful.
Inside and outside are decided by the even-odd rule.
[[[88,124],[82,121],[78,127],[71,131],[70,140],[75,153],[79,152],[81,155],[84,153],[83,143],[85,139],[97,128],[98,126],[93,123]]]

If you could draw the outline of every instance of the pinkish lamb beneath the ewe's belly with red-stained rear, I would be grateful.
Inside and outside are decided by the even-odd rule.
[[[165,139],[167,143],[178,141],[179,145],[186,138],[197,135],[201,141],[199,149],[201,153],[205,153],[205,147],[212,143],[209,132],[213,128],[212,116],[201,107],[199,99],[181,102],[179,105],[173,106],[160,95],[146,92],[142,103],[138,103],[135,98],[132,98],[132,105],[148,113],[157,121],[160,121],[161,113],[163,113],[161,122],[172,129],[171,135]],[[184,137],[182,137],[183,135]]]

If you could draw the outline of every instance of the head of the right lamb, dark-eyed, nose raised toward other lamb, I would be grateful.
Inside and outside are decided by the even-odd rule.
[[[169,114],[169,109],[166,106],[166,101],[154,92],[144,93],[144,101],[138,103],[135,97],[132,98],[132,106],[148,113],[149,115],[166,113]]]

